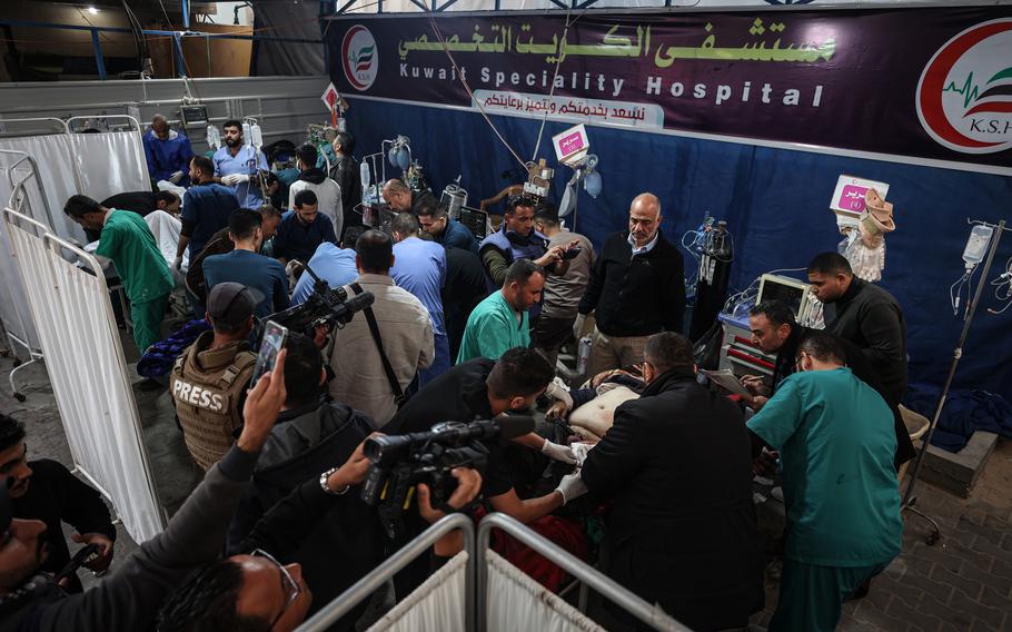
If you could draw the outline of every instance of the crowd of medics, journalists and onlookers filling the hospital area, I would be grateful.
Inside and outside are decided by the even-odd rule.
[[[395,179],[383,187],[396,211],[384,231],[355,210],[350,135],[335,139],[329,174],[304,146],[297,178],[282,182],[264,177],[239,121],[224,130],[225,147],[192,156],[163,117],[152,121],[149,171],[188,186],[181,199],[77,195],[65,207],[116,265],[141,352],[163,337],[182,283],[173,268],[187,264],[192,317],[207,325],[167,388],[206,477],[163,533],[81,592],[63,571],[60,523],[97,545],[87,566],[103,571],[109,512],[61,465],[29,461],[22,425],[0,417],[0,630],[294,630],[447,511],[503,512],[546,535],[603,515],[594,561],[606,574],[694,630],[744,629],[765,602],[757,474],[780,482],[786,510],[771,630],[833,630],[843,602],[899,553],[896,471],[913,454],[899,411],[903,313],[844,257],[821,254],[807,269],[824,330],[776,300],[751,309],[752,342],[776,363],[772,377],[742,378],[750,396],[730,397],[700,378],[682,335],[683,260],[656,196],[636,196],[627,229],[595,250],[549,200],[509,197],[502,227],[478,239],[431,192]],[[141,201],[169,213],[181,203],[175,261]],[[289,330],[254,383],[256,333],[309,300],[317,278],[373,302],[343,326]],[[588,381],[566,384],[559,350],[586,332],[578,382]],[[629,401],[593,438],[575,432],[571,418],[617,386]],[[480,472],[454,468],[445,503],[434,507],[418,484],[398,536],[360,497],[375,433],[545,408],[533,432],[487,442]],[[460,547],[459,534],[444,537],[385,590],[405,596]],[[374,621],[390,601],[377,593],[338,629]]]

